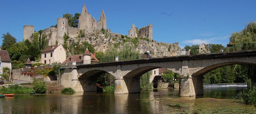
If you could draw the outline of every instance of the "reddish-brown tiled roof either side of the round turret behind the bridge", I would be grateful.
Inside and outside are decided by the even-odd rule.
[[[95,54],[90,53],[90,55],[91,55],[91,62],[100,62],[95,57]],[[78,54],[78,55],[74,55],[74,59],[73,59],[73,56],[68,56],[67,59],[63,63],[72,63],[73,60],[76,61],[77,63],[79,63],[79,62],[83,62],[83,59],[84,59],[83,54]]]

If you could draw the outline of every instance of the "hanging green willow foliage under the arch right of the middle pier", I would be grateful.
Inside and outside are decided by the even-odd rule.
[[[141,89],[152,89],[153,84],[150,83],[150,76],[152,75],[152,70],[141,75],[140,77],[140,87]]]

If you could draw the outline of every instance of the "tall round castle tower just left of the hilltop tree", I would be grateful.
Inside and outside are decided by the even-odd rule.
[[[66,33],[67,35],[68,29],[68,20],[66,18],[58,18],[57,19],[57,40],[59,44],[64,44],[63,36]]]

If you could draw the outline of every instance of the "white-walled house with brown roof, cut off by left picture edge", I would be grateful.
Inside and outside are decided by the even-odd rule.
[[[6,50],[0,50],[0,73],[2,74],[2,68],[8,67],[11,69],[11,59]]]

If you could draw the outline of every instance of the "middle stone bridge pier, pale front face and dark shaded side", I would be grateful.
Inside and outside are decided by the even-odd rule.
[[[115,79],[115,94],[141,92],[139,79]]]

